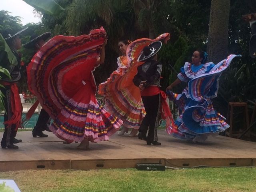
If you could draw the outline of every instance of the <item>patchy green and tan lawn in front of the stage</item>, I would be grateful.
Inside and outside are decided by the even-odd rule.
[[[256,168],[0,172],[22,192],[256,192]]]

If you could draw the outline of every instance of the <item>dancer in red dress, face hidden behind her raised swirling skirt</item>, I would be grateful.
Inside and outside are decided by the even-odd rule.
[[[122,120],[107,112],[96,100],[92,71],[104,62],[106,32],[55,36],[31,61],[32,89],[40,104],[54,120],[50,130],[66,143],[108,140]]]

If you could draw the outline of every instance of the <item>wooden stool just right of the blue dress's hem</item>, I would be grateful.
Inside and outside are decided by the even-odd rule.
[[[234,107],[241,107],[244,108],[244,127],[243,131],[234,131],[233,128],[233,114],[234,114]],[[227,115],[227,123],[230,125],[229,130],[226,131],[226,135],[229,137],[238,138],[248,127],[249,127],[249,115],[248,115],[248,106],[245,102],[229,102],[228,103],[228,115]]]

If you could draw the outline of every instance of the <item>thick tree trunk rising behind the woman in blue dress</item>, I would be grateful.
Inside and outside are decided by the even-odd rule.
[[[229,10],[230,0],[212,0],[207,51],[215,64],[228,54]]]

